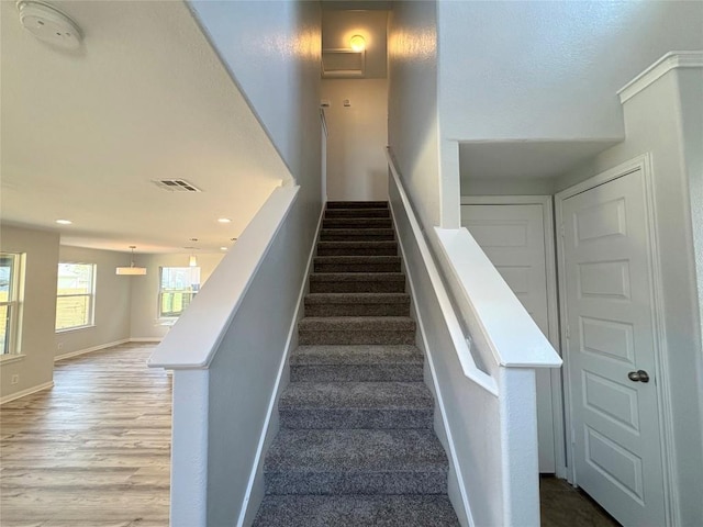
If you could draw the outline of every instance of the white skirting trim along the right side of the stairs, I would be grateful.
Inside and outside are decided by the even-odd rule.
[[[400,190],[400,189],[399,189]],[[403,248],[403,242],[400,235],[398,235],[398,221],[395,220],[395,212],[393,211],[393,203],[389,200],[391,214],[393,215],[393,229],[397,232],[398,237],[398,246],[400,247],[400,251],[402,255],[402,261],[409,261],[405,256],[405,249]],[[410,214],[406,214],[410,216]],[[422,251],[421,251],[422,253]],[[410,285],[410,293],[413,298],[413,311],[415,312],[415,319],[417,321],[417,328],[420,329],[420,335],[422,337],[423,347],[425,350],[425,357],[427,358],[427,365],[429,366],[429,372],[432,374],[432,383],[434,384],[434,395],[437,399],[437,407],[439,408],[439,414],[442,415],[442,424],[444,426],[444,431],[447,437],[447,447],[449,449],[449,458],[451,459],[451,466],[454,467],[454,471],[456,472],[457,478],[457,486],[459,489],[459,495],[461,496],[461,503],[464,505],[464,511],[466,512],[467,520],[469,526],[473,527],[476,523],[473,522],[473,516],[471,515],[471,505],[469,503],[469,497],[466,492],[466,486],[464,484],[464,476],[461,474],[461,466],[459,464],[459,458],[457,456],[456,449],[454,448],[454,437],[451,436],[451,429],[449,428],[449,422],[447,419],[447,413],[444,406],[444,399],[442,397],[442,391],[439,390],[439,382],[437,381],[437,374],[435,372],[435,365],[432,360],[432,351],[429,344],[427,343],[427,336],[425,332],[425,324],[422,319],[422,315],[420,314],[420,309],[417,307],[417,295],[415,293],[415,281],[413,280],[412,272],[408,265],[405,267],[405,273],[408,274],[408,284]],[[432,274],[433,269],[427,267],[427,274]],[[436,272],[436,269],[434,269]],[[436,293],[436,290],[435,290]],[[438,299],[437,299],[438,300]],[[494,393],[498,395],[498,393]]]

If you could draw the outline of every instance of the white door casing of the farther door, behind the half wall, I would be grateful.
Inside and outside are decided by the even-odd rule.
[[[551,195],[462,195],[462,205],[542,205],[547,272],[547,324],[549,341],[561,356],[559,339],[559,301],[557,295],[557,256],[555,247],[554,199]],[[567,475],[566,427],[563,422],[563,386],[560,369],[553,369],[551,411],[554,414],[555,474]]]

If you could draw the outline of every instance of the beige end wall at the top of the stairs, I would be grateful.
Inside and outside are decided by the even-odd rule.
[[[327,198],[332,201],[388,199],[388,81],[323,80],[331,102],[327,120]],[[350,106],[344,106],[348,99]]]

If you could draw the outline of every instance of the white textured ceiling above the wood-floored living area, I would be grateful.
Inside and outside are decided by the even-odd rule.
[[[0,220],[113,250],[230,245],[290,173],[187,5],[57,5],[83,32],[77,52],[37,41],[0,2]],[[203,192],[150,182],[174,178]]]

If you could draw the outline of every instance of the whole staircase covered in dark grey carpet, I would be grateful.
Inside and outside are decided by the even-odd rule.
[[[256,527],[457,526],[386,202],[328,202]]]

